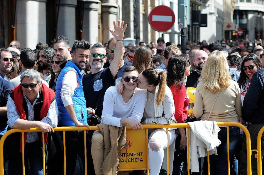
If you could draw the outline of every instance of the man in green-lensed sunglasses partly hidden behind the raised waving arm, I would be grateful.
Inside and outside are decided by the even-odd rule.
[[[122,46],[123,46],[123,44],[122,44]],[[123,48],[123,53],[124,53],[125,47],[122,47],[122,48]],[[110,60],[104,64],[103,68],[107,68],[111,65],[111,62],[115,56],[115,49],[116,49],[116,39],[115,39],[115,37],[112,37],[108,40],[108,44],[107,44],[107,53],[110,56]],[[125,56],[124,58],[125,58],[125,60],[122,59],[120,65],[119,65],[119,69],[118,69],[118,72],[116,75],[117,76],[116,83],[118,83],[121,80],[124,68],[127,66],[132,66],[131,62],[126,61],[127,57]]]

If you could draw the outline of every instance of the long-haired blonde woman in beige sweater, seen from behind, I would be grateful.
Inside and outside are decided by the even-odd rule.
[[[231,80],[228,68],[226,58],[219,50],[212,52],[207,58],[196,89],[194,115],[197,118],[216,122],[239,122],[242,108],[240,88]],[[221,144],[217,147],[218,155],[210,156],[210,169],[214,170],[213,174],[225,175],[228,174],[226,127],[220,128],[218,138]],[[230,155],[233,155],[238,136],[239,128],[229,127]]]

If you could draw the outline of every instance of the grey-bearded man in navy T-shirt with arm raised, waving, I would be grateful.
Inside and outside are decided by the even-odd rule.
[[[115,85],[116,74],[119,70],[120,62],[123,59],[123,44],[122,40],[126,30],[124,22],[118,21],[114,22],[114,29],[109,31],[116,39],[116,47],[114,59],[111,61],[111,65],[108,68],[103,68],[103,65],[106,61],[106,50],[104,45],[101,43],[94,44],[91,48],[90,54],[90,64],[91,64],[91,73],[84,75],[83,77],[83,87],[84,87],[84,96],[86,99],[87,107],[92,107],[96,110],[96,114],[99,117],[91,118],[89,125],[96,125],[101,123],[100,118],[103,110],[103,99],[106,90],[110,86]],[[89,132],[92,135],[92,132]],[[91,137],[91,135],[89,135]]]

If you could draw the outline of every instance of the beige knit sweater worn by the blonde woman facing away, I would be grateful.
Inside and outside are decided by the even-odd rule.
[[[230,81],[230,86],[219,92],[219,95],[214,104],[217,92],[215,94],[204,90],[202,87],[203,80],[200,81],[196,87],[194,100],[194,116],[201,120],[207,120],[209,113],[214,104],[212,113],[208,120],[216,122],[234,121],[238,122],[242,113],[241,94],[238,84]]]

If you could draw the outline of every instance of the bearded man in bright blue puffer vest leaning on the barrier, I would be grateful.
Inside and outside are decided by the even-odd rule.
[[[61,47],[65,45],[63,43]],[[72,46],[72,61],[66,62],[57,78],[56,100],[59,109],[59,126],[86,126],[90,129],[87,125],[87,109],[82,86],[82,70],[88,64],[90,46],[91,44],[85,40],[75,40]],[[58,50],[60,49],[57,49],[57,52]],[[61,60],[65,58],[63,55],[58,55]],[[65,133],[67,174],[74,172],[84,174],[84,133],[86,132],[66,131]],[[89,142],[88,139],[87,137],[87,142]]]

